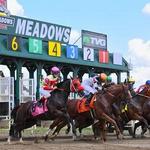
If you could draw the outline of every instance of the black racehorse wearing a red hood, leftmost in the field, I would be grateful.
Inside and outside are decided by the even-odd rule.
[[[66,109],[66,102],[70,92],[80,92],[83,90],[80,80],[78,78],[67,79],[58,83],[57,89],[51,92],[51,96],[47,98],[48,111],[44,114],[32,116],[31,109],[33,102],[29,101],[17,106],[12,111],[12,118],[14,123],[10,127],[8,142],[10,136],[19,134],[20,142],[22,142],[21,131],[36,124],[37,120],[54,120],[56,118],[63,118],[67,121],[68,126],[72,125],[72,132],[76,135],[73,121],[70,119]]]

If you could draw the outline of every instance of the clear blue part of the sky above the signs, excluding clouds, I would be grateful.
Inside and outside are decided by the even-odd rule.
[[[130,39],[150,35],[150,18],[142,13],[148,0],[18,0],[24,15],[51,23],[105,33],[109,51],[127,50]]]

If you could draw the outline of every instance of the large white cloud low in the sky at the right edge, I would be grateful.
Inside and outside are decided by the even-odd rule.
[[[136,86],[150,79],[150,41],[140,38],[128,42],[127,59],[131,60],[133,70],[131,76],[136,80]]]

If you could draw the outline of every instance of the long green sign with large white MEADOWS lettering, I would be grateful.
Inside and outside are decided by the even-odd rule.
[[[34,37],[45,41],[58,41],[64,44],[67,44],[69,42],[71,33],[70,27],[22,18],[18,16],[11,16],[11,18],[13,18],[14,20],[13,26],[8,26],[5,30],[0,29],[0,33],[11,33],[12,35],[23,37]],[[1,23],[3,22],[1,21]]]

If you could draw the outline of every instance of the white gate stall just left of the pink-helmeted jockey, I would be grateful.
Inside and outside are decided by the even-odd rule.
[[[33,79],[20,79],[20,103],[36,99],[35,84]]]

